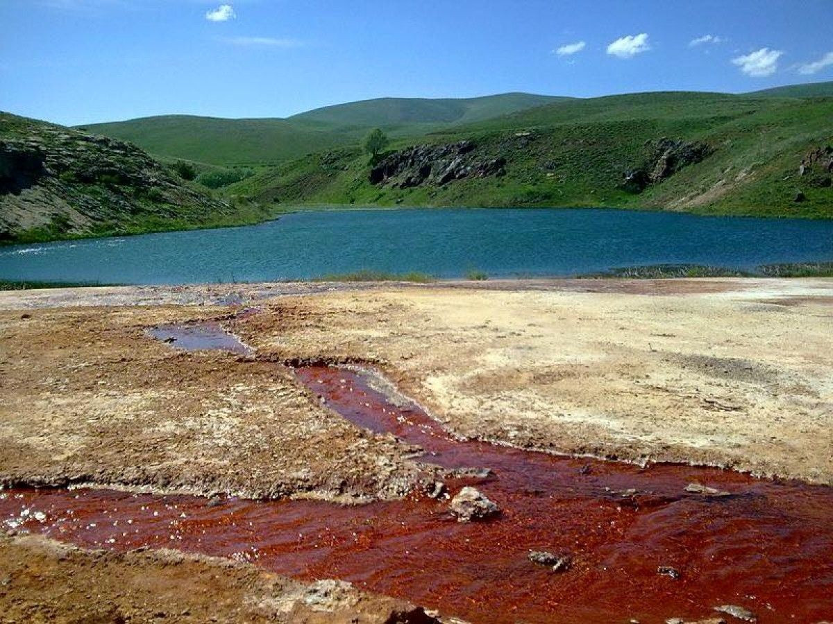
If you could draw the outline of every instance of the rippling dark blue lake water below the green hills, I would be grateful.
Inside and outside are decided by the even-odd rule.
[[[833,260],[833,220],[601,209],[344,210],[238,228],[0,247],[0,279],[187,284],[363,269],[516,277],[818,260]]]

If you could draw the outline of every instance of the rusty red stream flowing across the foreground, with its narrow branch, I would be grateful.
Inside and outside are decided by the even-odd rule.
[[[446,483],[452,494],[474,484],[500,516],[456,522],[447,500],[419,493],[342,507],[12,489],[0,493],[0,520],[83,547],[175,547],[340,578],[471,622],[665,622],[716,617],[727,604],[758,622],[833,619],[833,488],[460,441],[361,370],[309,366],[297,377],[353,423],[420,445],[426,462],[491,468]],[[730,495],[690,493],[689,483]],[[551,572],[530,550],[569,553],[572,566]]]

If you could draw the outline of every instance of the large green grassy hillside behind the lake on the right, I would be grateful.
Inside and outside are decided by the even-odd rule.
[[[626,173],[656,159],[662,139],[705,146],[709,156],[644,191],[627,189]],[[459,141],[471,148],[454,151]],[[428,147],[402,151],[417,143]],[[431,173],[416,184],[407,174],[373,184],[367,156],[343,147],[262,171],[229,192],[284,205],[618,206],[833,217],[829,174],[799,175],[808,152],[831,144],[833,98],[642,93],[554,102],[394,143],[392,161],[397,153],[422,158],[425,171],[451,166],[453,158],[436,156],[451,149],[464,166],[454,173],[461,177],[445,183]],[[804,201],[795,201],[799,191]]]

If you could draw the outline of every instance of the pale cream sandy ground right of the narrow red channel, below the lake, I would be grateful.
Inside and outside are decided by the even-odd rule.
[[[467,436],[833,483],[833,280],[597,290],[343,291],[237,330],[263,357],[375,361]]]

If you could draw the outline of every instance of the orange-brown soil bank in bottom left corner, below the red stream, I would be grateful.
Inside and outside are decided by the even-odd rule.
[[[0,536],[0,622],[438,624],[418,607],[248,564],[169,550],[87,551]]]

